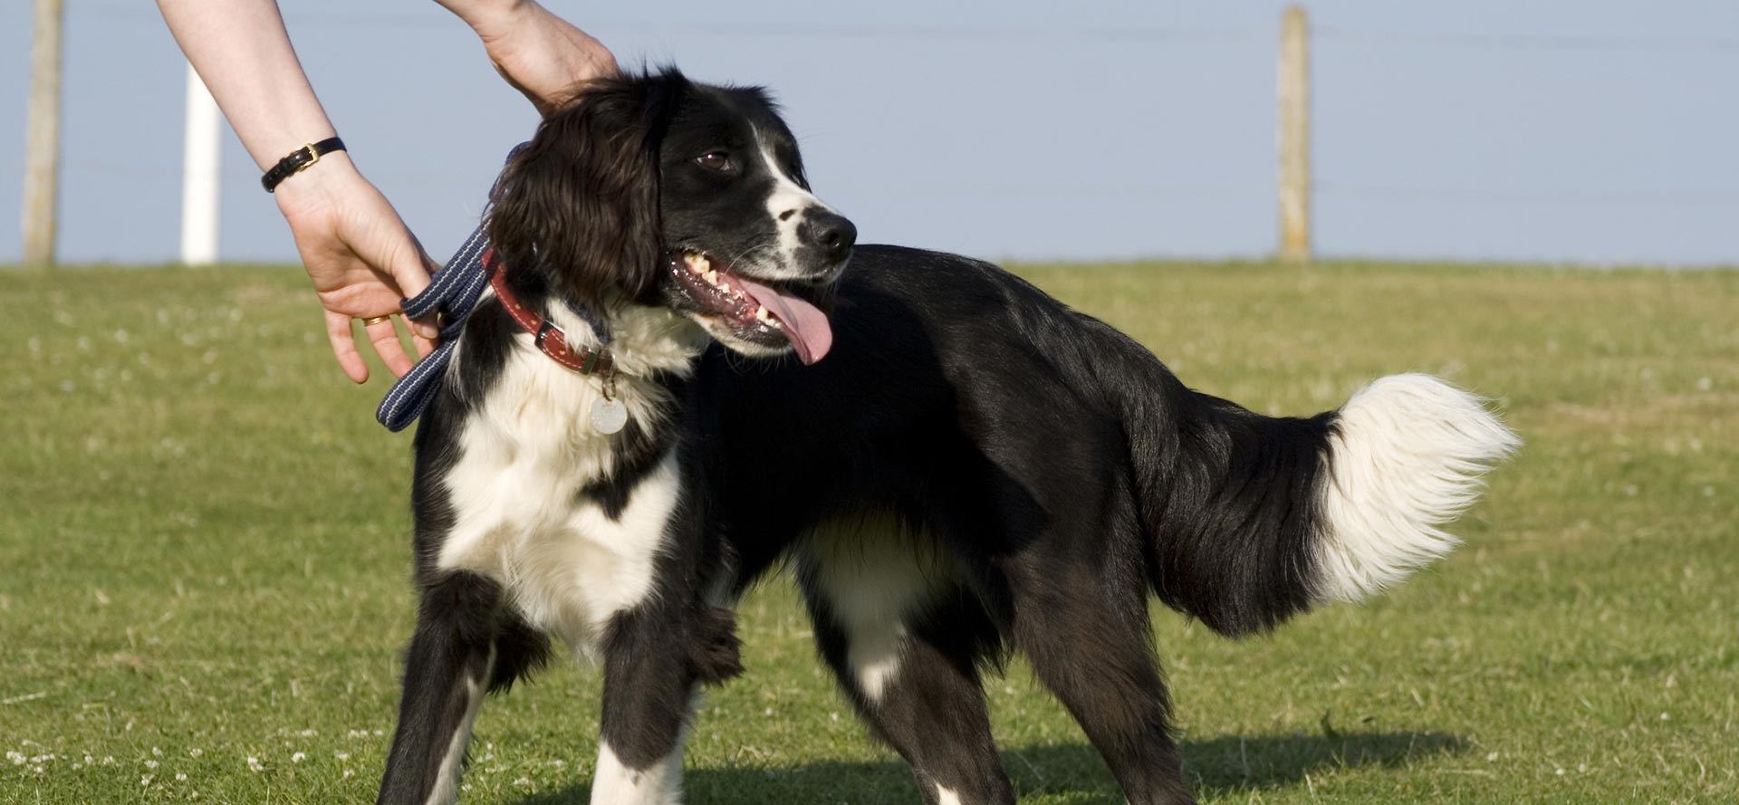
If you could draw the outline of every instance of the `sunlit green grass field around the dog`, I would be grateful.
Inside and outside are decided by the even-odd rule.
[[[1739,273],[1028,266],[1257,410],[1426,370],[1527,447],[1393,595],[1226,642],[1156,612],[1210,803],[1739,800]],[[374,795],[412,624],[409,436],[296,269],[0,271],[0,802]],[[788,581],[741,607],[692,803],[915,803]],[[1023,802],[1122,802],[1016,664]],[[596,676],[494,699],[466,802],[583,803]]]

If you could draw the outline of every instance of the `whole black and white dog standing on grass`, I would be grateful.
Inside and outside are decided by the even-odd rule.
[[[1129,802],[1189,802],[1148,596],[1226,635],[1360,600],[1450,549],[1516,447],[1424,376],[1252,414],[995,266],[854,249],[762,92],[675,71],[548,118],[489,233],[503,292],[416,438],[381,802],[450,802],[483,694],[551,635],[603,669],[591,802],[678,802],[689,702],[739,669],[723,607],[783,560],[925,803],[1014,802],[979,685],[1012,649]],[[602,320],[610,372],[551,360],[527,311],[593,356]]]

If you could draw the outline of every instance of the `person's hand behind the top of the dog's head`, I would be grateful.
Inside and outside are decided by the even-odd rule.
[[[539,115],[555,111],[576,83],[619,71],[616,56],[602,42],[536,2],[492,14],[466,0],[440,2],[471,24],[496,71],[530,99]]]

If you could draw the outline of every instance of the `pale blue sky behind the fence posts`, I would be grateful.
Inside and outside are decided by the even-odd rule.
[[[530,106],[431,2],[282,5],[362,170],[445,257]],[[864,242],[993,259],[1275,247],[1280,2],[546,5],[624,63],[770,87]],[[1309,12],[1318,254],[1739,263],[1739,3]],[[0,261],[19,254],[28,45],[30,3],[0,7]],[[176,257],[183,80],[153,3],[68,0],[63,259]],[[224,259],[294,259],[233,136],[223,193]]]

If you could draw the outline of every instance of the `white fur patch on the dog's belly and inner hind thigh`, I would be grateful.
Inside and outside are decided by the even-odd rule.
[[[890,515],[817,529],[800,562],[845,631],[845,664],[857,689],[876,704],[899,676],[906,621],[949,577],[949,563],[929,537],[901,534]]]

